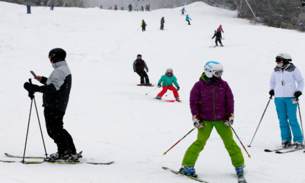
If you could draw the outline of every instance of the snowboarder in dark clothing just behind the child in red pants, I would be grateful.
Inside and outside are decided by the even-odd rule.
[[[146,71],[148,72],[148,67],[146,62],[142,60],[142,55],[140,54],[137,55],[137,60],[134,60],[132,66],[134,72],[137,72],[137,74],[139,74],[139,76],[141,77],[141,85],[151,85],[149,82],[148,75],[146,73]],[[144,71],[144,68],[146,69],[146,71]],[[144,82],[144,78],[145,78],[145,82]]]

